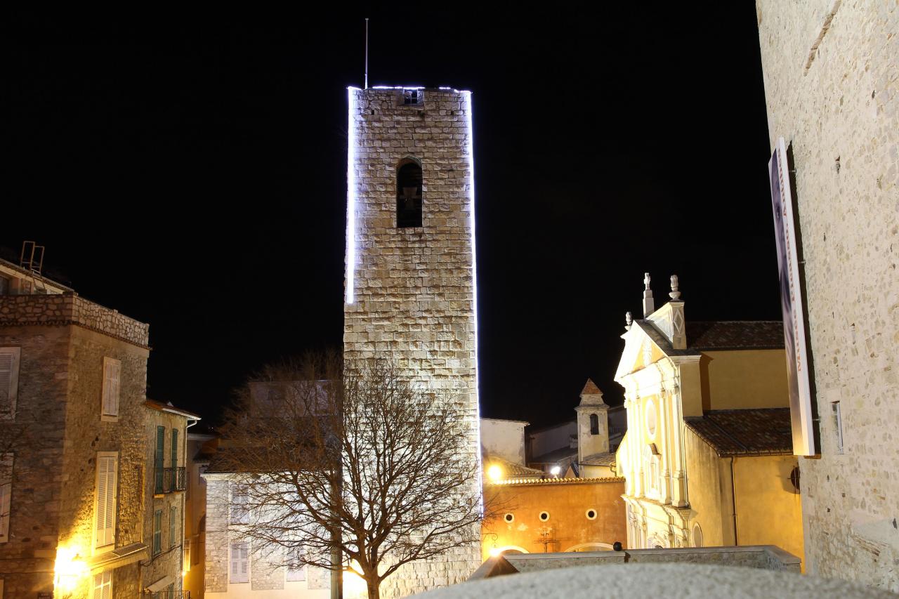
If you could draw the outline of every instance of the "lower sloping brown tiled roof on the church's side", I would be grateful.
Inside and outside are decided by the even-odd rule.
[[[711,410],[684,422],[723,458],[793,453],[788,407]]]

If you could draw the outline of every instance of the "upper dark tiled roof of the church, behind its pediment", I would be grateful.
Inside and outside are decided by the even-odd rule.
[[[687,344],[695,350],[782,349],[784,325],[779,320],[688,321]]]

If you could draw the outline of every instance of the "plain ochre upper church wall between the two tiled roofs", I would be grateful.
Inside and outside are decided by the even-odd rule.
[[[706,409],[789,406],[783,350],[703,352],[700,364]]]

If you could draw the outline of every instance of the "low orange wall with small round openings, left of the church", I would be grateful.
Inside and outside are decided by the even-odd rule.
[[[574,479],[584,480],[583,478]],[[551,482],[525,485],[487,485],[485,497],[504,505],[498,517],[485,521],[482,527],[482,554],[487,559],[494,547],[520,547],[527,553],[543,552],[543,543],[536,542],[541,532],[548,531],[547,551],[567,551],[583,543],[612,545],[621,541],[627,546],[624,481],[611,479],[596,482]],[[595,509],[595,520],[586,512]],[[541,522],[540,512],[549,513]],[[514,521],[506,523],[504,514],[512,514]],[[587,550],[587,549],[583,549]],[[598,549],[592,549],[598,550]]]

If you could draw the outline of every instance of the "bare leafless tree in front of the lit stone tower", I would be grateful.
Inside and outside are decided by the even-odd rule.
[[[254,550],[292,568],[352,563],[377,599],[404,564],[478,544],[484,506],[458,399],[416,388],[391,360],[351,366],[264,368],[227,418],[217,468],[242,489],[233,528]]]

